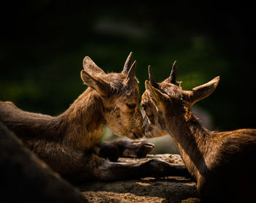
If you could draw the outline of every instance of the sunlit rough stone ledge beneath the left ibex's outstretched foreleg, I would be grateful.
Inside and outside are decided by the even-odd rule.
[[[183,164],[179,155],[148,155],[146,158],[119,158],[120,162],[143,163],[158,158]],[[145,177],[113,183],[93,182],[79,185],[89,202],[200,202],[195,181],[187,177]]]

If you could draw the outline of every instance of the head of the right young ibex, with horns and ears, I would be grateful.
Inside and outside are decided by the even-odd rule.
[[[184,91],[181,83],[176,82],[176,61],[167,77],[162,83],[157,83],[148,66],[149,82],[146,80],[146,91],[141,99],[141,106],[146,112],[144,118],[146,137],[159,137],[170,134],[176,129],[177,122],[187,122],[192,115],[192,104],[210,95],[219,83],[219,77],[210,82]]]

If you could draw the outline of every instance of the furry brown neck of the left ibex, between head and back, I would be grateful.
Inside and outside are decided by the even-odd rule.
[[[83,150],[98,145],[106,123],[102,109],[99,94],[87,88],[68,110],[56,117],[56,123],[65,131],[65,142]]]

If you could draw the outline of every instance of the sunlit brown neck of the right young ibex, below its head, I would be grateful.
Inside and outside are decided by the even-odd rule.
[[[184,164],[189,172],[197,178],[206,172],[206,153],[208,151],[208,137],[210,132],[203,128],[199,120],[189,112],[189,117],[179,115],[169,116],[167,123],[169,134],[173,137]],[[175,125],[171,125],[175,123]]]

